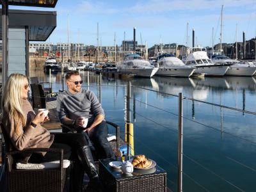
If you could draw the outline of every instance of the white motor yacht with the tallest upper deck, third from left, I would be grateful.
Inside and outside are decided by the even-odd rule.
[[[194,74],[205,76],[224,76],[229,65],[214,65],[207,56],[206,48],[193,47],[186,58],[186,65],[196,67]]]

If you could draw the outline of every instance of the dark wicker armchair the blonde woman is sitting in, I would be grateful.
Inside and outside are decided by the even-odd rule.
[[[5,174],[8,180],[8,191],[70,191],[70,187],[66,182],[66,176],[70,174],[70,169],[63,168],[63,149],[60,148],[26,148],[22,151],[12,150],[12,142],[7,136],[6,131],[1,124],[2,133],[4,136],[4,152],[2,157],[5,162]],[[60,154],[59,168],[45,168],[22,170],[15,168],[17,157],[20,155],[26,156],[33,152],[54,152]],[[70,168],[71,167],[71,168]]]

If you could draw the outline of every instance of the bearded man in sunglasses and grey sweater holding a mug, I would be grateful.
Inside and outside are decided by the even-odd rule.
[[[96,95],[81,88],[83,81],[78,71],[66,74],[68,90],[57,98],[57,111],[61,124],[74,127],[90,138],[98,158],[115,158],[115,154],[107,139],[108,125],[104,120],[104,111]],[[88,124],[83,128],[83,118],[88,118]],[[94,148],[95,147],[95,148]]]

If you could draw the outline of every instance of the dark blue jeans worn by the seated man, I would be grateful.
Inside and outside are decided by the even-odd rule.
[[[87,127],[89,127],[88,125]],[[90,148],[93,155],[97,155],[97,159],[115,158],[113,149],[108,141],[108,124],[102,121],[99,125],[94,127],[88,134],[88,132],[82,132],[86,138],[88,138]],[[89,139],[90,138],[90,139]]]

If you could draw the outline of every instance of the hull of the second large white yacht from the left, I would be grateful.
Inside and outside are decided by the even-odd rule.
[[[195,68],[159,68],[156,72],[156,76],[168,76],[168,77],[190,77]]]

